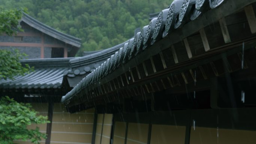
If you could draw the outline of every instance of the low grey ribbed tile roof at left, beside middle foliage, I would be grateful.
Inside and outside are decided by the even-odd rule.
[[[0,80],[0,89],[48,89],[61,88],[63,73],[69,68],[72,58],[25,59],[21,64],[34,67],[25,76],[15,76],[14,80]]]

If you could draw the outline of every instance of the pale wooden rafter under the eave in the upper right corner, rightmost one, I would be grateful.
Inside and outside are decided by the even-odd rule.
[[[246,12],[246,17],[251,29],[252,34],[256,33],[256,17],[255,17],[255,12],[253,10],[253,6],[249,5],[244,7],[244,11]]]

